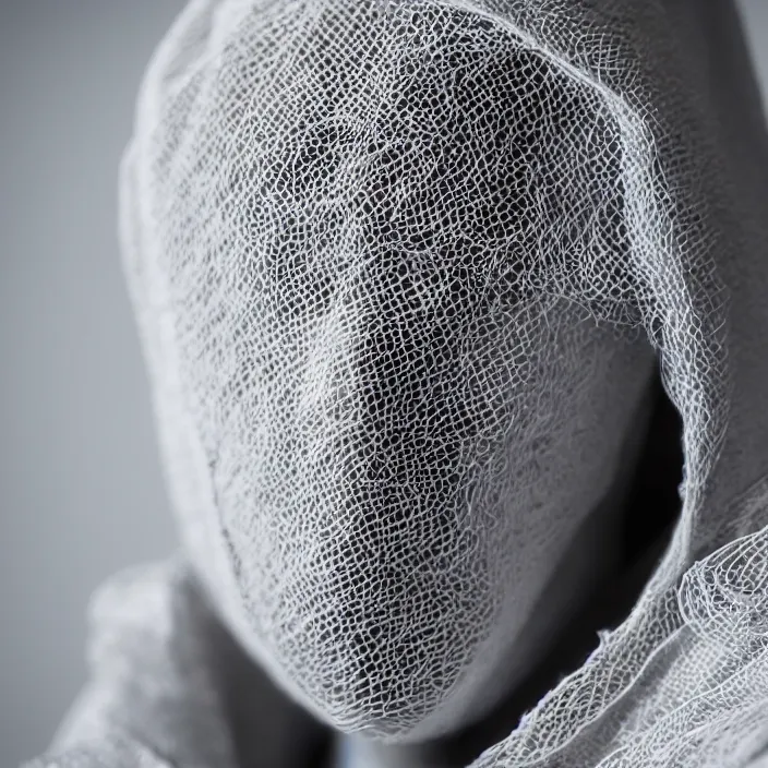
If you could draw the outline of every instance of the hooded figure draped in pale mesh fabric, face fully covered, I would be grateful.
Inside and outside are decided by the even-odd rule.
[[[183,547],[32,765],[768,766],[766,148],[730,0],[191,2],[121,171]]]

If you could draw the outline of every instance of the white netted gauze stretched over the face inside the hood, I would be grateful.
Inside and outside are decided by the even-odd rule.
[[[477,14],[211,11],[133,148],[160,419],[196,448],[171,481],[208,487],[182,526],[315,712],[439,735],[506,682],[648,382],[639,335],[597,322],[638,314],[616,129]]]

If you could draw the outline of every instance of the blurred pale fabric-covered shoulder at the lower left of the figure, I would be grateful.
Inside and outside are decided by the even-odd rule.
[[[111,577],[88,623],[87,683],[48,753],[24,768],[235,765],[216,620],[180,557]]]

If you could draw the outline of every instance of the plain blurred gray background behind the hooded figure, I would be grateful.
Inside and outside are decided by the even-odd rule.
[[[742,5],[768,89],[768,0]],[[0,768],[46,747],[82,684],[93,588],[175,543],[116,173],[182,7],[0,0]]]

